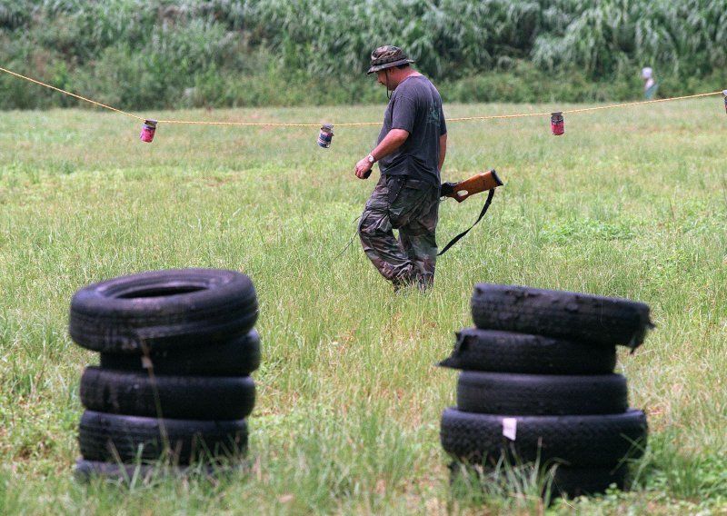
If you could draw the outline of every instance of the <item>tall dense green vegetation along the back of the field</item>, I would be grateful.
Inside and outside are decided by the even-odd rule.
[[[727,84],[727,0],[9,0],[5,68],[122,109],[369,103],[403,46],[446,102],[583,102]],[[0,74],[0,109],[77,105]]]

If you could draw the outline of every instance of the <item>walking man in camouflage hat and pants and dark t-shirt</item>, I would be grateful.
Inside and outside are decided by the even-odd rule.
[[[440,171],[447,150],[442,97],[409,65],[401,48],[385,45],[371,54],[375,73],[391,98],[376,147],[356,164],[359,179],[374,163],[381,178],[361,215],[358,233],[364,253],[394,290],[432,286],[437,257],[435,232]],[[398,241],[393,229],[399,230]]]

